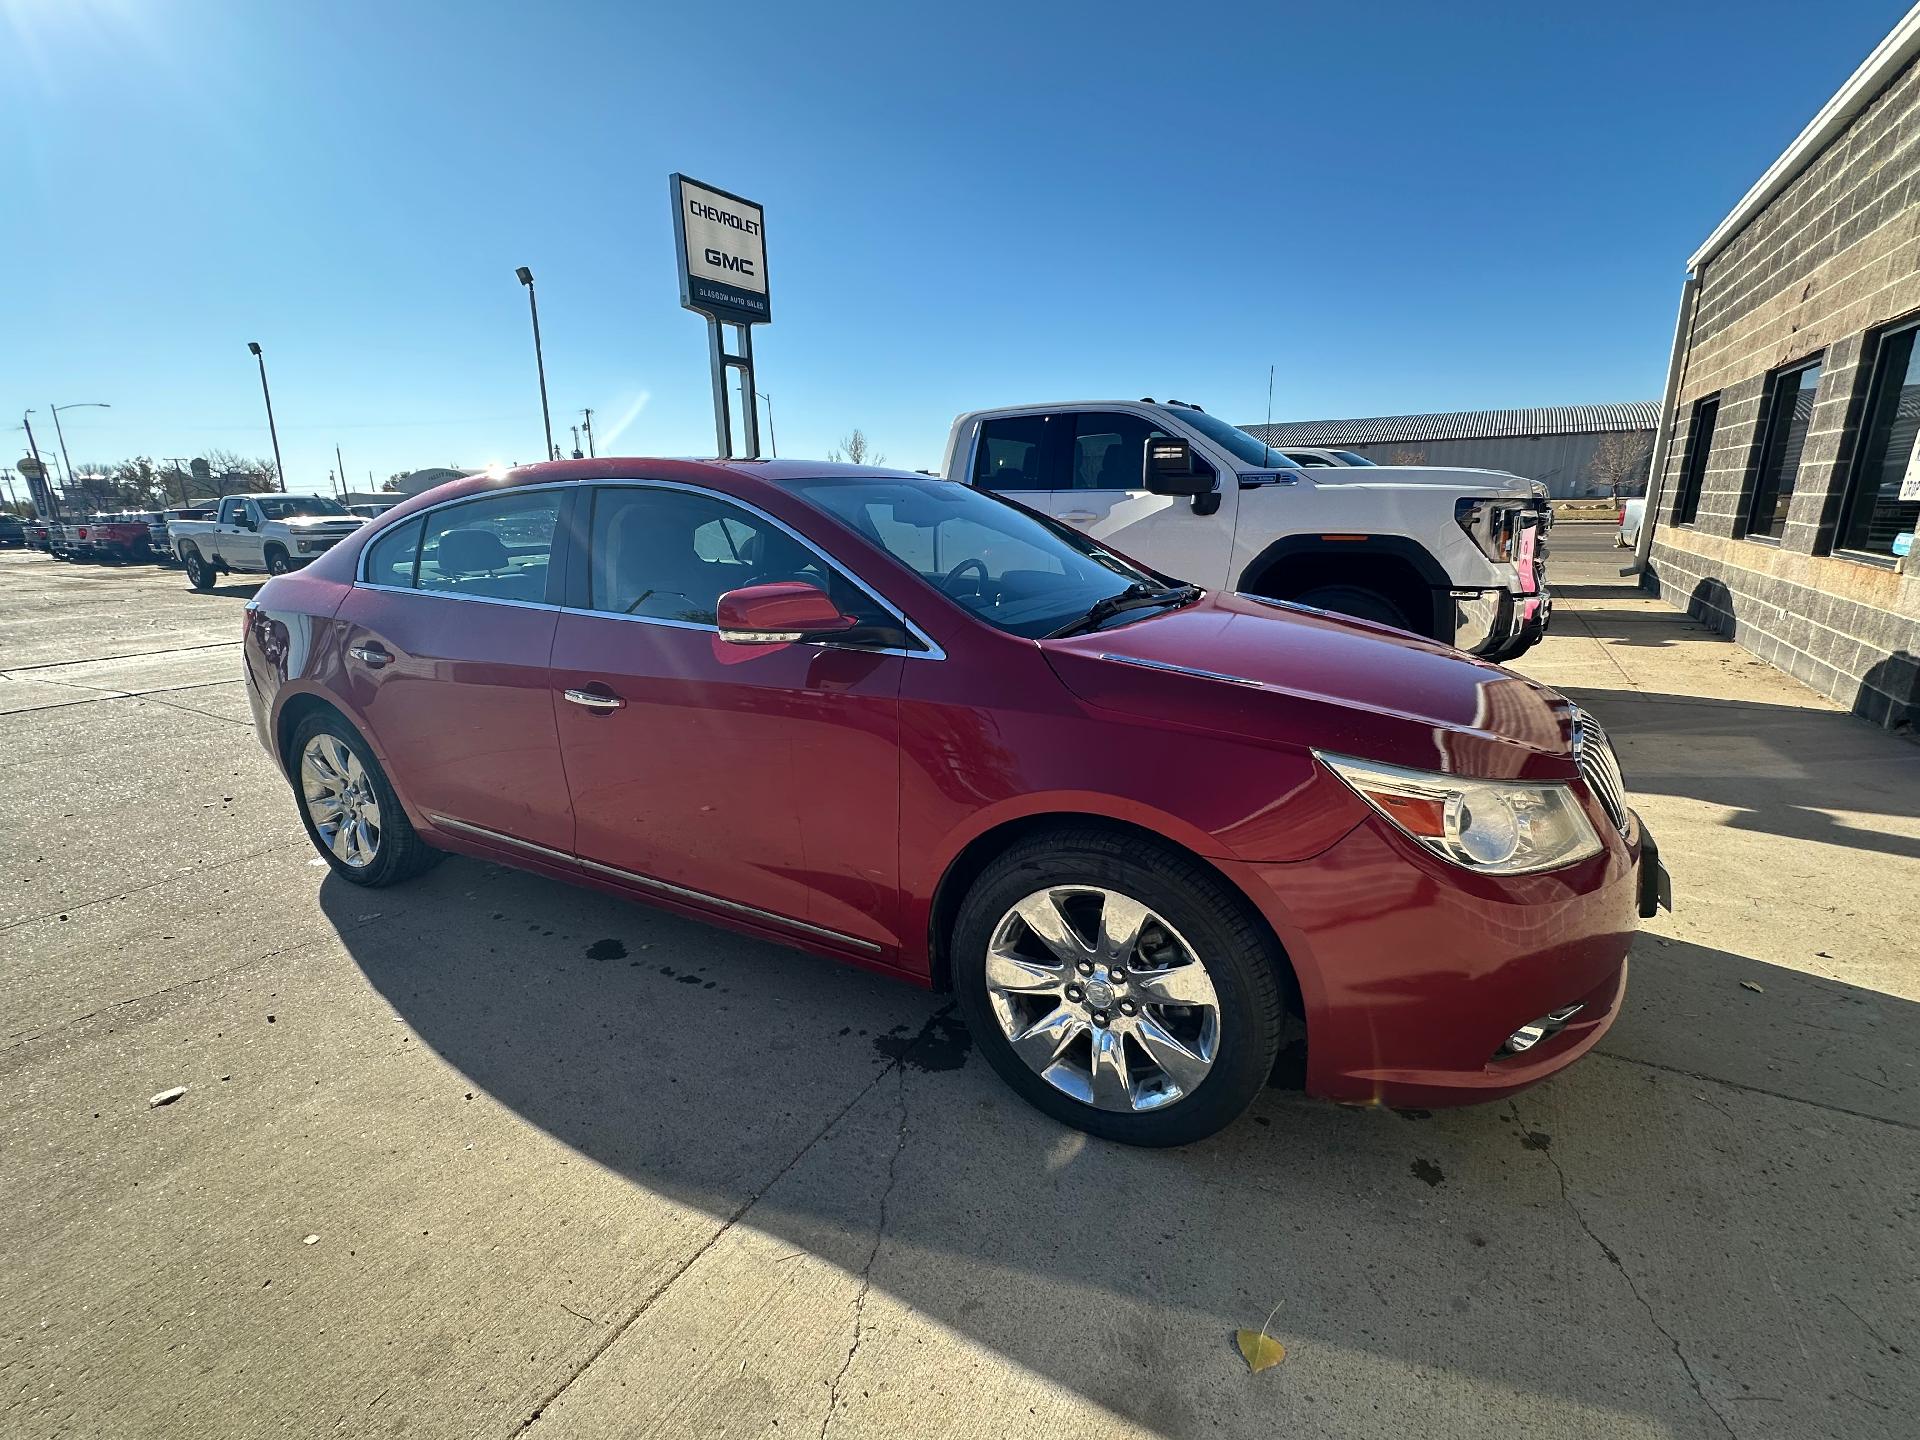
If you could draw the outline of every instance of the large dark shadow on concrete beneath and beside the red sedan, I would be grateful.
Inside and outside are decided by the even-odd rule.
[[[945,996],[637,902],[455,856],[376,902],[328,877],[321,904],[449,1089],[1158,1432],[1315,1415],[1233,1354],[1269,1313],[1294,1388],[1382,1386],[1382,1415],[1448,1373],[1517,1396],[1526,1432],[1709,1434],[1703,1402],[1795,1380],[1782,1432],[1866,1432],[1822,1402],[1836,1371],[1920,1400],[1897,1357],[1893,1380],[1795,1359],[1724,1258],[1738,1223],[1811,1329],[1853,1336],[1849,1304],[1893,1334],[1912,1308],[1899,1229],[1830,1223],[1897,1210],[1912,1175],[1920,1006],[1887,995],[1642,935],[1601,1052],[1513,1102],[1269,1091],[1156,1152],[1031,1112]]]

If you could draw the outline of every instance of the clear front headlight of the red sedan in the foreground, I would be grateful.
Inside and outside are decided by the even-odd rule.
[[[1559,781],[1467,780],[1313,755],[1396,829],[1467,870],[1526,876],[1599,852],[1586,810]]]

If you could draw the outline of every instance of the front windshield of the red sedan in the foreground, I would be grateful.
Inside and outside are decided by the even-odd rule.
[[[795,493],[987,624],[1037,639],[1158,580],[1091,540],[948,480],[795,480]]]

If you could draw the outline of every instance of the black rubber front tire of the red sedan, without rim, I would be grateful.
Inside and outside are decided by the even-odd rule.
[[[1048,885],[1121,891],[1164,916],[1198,954],[1219,996],[1213,1066],[1192,1094],[1160,1110],[1096,1110],[1033,1071],[987,995],[987,947],[1014,904]],[[1231,1125],[1267,1085],[1286,1027],[1281,954],[1242,895],[1171,845],[1098,826],[1025,839],[973,881],[954,924],[952,979],[981,1054],[1016,1094],[1064,1125],[1140,1146],[1190,1144]]]

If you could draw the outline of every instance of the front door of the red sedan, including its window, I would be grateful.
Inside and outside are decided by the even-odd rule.
[[[902,655],[714,624],[724,591],[768,580],[868,620],[877,601],[732,497],[634,482],[588,501],[553,643],[580,858],[776,931],[897,945]]]

